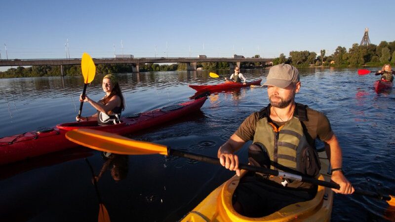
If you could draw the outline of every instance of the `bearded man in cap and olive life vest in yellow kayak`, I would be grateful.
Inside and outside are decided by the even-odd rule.
[[[236,171],[235,152],[247,141],[251,165],[316,177],[320,170],[316,139],[325,145],[332,166],[331,180],[340,185],[336,193],[351,194],[354,187],[343,175],[342,150],[327,117],[295,103],[301,82],[298,70],[286,64],[273,66],[264,85],[270,104],[249,115],[230,139],[218,149],[225,168]],[[248,172],[233,196],[235,210],[247,217],[263,217],[293,203],[311,200],[317,186],[300,181]]]

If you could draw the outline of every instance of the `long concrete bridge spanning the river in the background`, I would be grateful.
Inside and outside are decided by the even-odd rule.
[[[234,69],[235,63],[240,67],[242,62],[273,64],[273,58],[94,58],[98,64],[131,64],[135,73],[139,72],[139,65],[145,63],[186,63],[188,71],[197,70],[198,62],[228,62],[230,69]],[[60,66],[63,75],[64,65],[80,65],[81,59],[8,59],[0,60],[0,66]]]

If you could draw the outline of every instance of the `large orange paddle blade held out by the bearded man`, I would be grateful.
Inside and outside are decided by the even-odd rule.
[[[144,141],[136,141],[113,133],[92,129],[74,129],[66,133],[66,138],[84,147],[126,155],[162,154],[167,155],[167,147]]]

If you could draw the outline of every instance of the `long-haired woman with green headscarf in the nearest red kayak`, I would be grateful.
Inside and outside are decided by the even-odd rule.
[[[102,87],[106,95],[98,102],[91,100],[87,95],[85,95],[84,99],[82,99],[82,94],[79,96],[79,102],[88,102],[97,110],[97,113],[86,117],[81,116],[80,118],[77,116],[77,121],[97,120],[100,126],[120,122],[120,115],[125,108],[125,101],[117,77],[113,74],[105,75],[103,77]]]

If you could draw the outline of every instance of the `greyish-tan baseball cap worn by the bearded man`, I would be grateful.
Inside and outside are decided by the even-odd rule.
[[[279,64],[270,68],[266,82],[263,85],[286,88],[292,82],[299,82],[298,69],[288,64]]]

